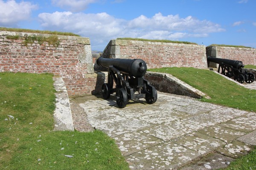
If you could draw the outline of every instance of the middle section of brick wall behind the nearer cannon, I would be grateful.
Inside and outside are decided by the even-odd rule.
[[[204,45],[111,40],[103,51],[102,57],[143,59],[148,68],[207,68]]]

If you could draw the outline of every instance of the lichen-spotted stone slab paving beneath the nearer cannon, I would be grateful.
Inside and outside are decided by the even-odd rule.
[[[89,123],[116,140],[131,170],[227,167],[256,145],[256,113],[158,92],[157,102],[77,97]]]

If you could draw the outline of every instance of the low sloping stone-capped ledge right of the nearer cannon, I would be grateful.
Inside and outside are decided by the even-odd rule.
[[[145,79],[147,79],[158,91],[189,96],[198,99],[201,99],[202,97],[210,99],[210,97],[203,92],[193,88],[191,85],[186,84],[171,74],[148,71],[145,74]]]

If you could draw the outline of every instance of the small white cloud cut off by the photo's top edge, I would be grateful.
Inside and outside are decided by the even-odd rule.
[[[90,3],[97,1],[99,0],[52,0],[52,4],[72,12],[79,12],[86,9]]]

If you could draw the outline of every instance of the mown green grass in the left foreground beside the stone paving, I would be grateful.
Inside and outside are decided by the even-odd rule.
[[[101,131],[52,131],[51,74],[0,73],[0,87],[1,170],[129,169]]]

